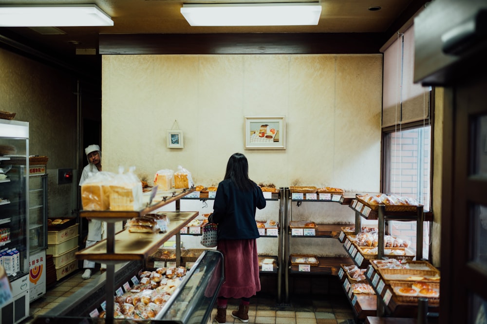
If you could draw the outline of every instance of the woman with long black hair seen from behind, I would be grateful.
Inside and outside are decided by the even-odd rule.
[[[225,283],[218,293],[217,323],[226,322],[228,298],[241,299],[232,317],[248,322],[250,297],[261,290],[255,222],[256,208],[265,207],[262,190],[248,177],[247,158],[235,153],[228,159],[225,178],[218,184],[209,222],[218,224],[218,247],[224,255]]]

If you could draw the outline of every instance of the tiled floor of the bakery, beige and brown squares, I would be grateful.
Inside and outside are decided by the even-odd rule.
[[[100,272],[96,271],[92,278],[83,280],[82,271],[61,280],[56,286],[30,305],[30,317],[22,322],[29,324],[36,315],[41,315],[71,296],[80,287],[95,280]],[[241,323],[231,316],[232,310],[238,308],[238,300],[230,299],[226,314],[226,323]],[[216,314],[213,309],[212,318]],[[275,298],[257,296],[250,300],[249,324],[351,324],[352,308],[346,296],[314,296],[307,298],[291,298],[289,304],[277,305]]]

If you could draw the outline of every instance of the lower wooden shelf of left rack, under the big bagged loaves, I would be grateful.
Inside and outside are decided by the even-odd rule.
[[[166,233],[129,233],[122,230],[115,234],[114,253],[107,253],[107,240],[103,240],[76,252],[76,257],[100,263],[144,260],[198,215],[197,211],[165,213],[169,218]]]

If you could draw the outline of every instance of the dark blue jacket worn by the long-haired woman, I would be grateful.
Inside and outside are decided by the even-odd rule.
[[[218,224],[218,240],[243,240],[259,237],[255,223],[256,208],[265,207],[261,188],[241,191],[231,179],[218,184],[209,222]]]

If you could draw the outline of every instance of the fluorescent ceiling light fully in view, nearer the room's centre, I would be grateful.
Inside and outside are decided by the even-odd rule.
[[[318,25],[321,5],[318,2],[183,4],[181,14],[191,26]]]

